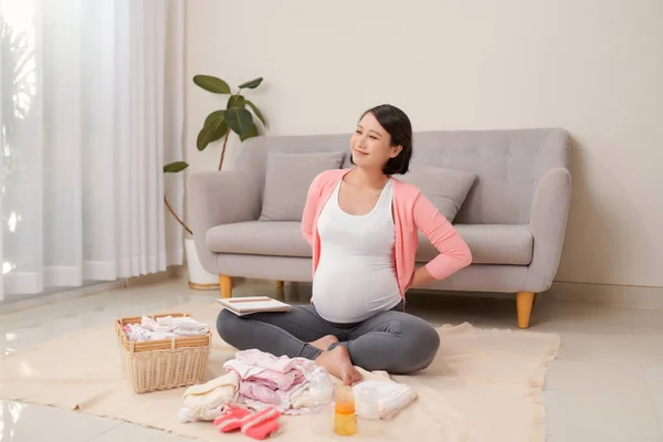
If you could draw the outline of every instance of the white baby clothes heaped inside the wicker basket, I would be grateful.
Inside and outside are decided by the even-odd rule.
[[[192,317],[165,316],[152,319],[148,316],[140,318],[140,324],[127,324],[124,332],[129,340],[159,340],[178,336],[203,336],[210,327]]]

